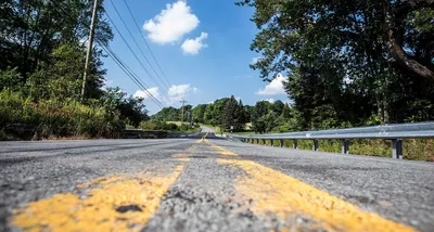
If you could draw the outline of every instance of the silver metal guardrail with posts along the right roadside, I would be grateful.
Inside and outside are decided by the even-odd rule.
[[[312,140],[314,151],[319,150],[318,140],[342,140],[343,154],[349,154],[349,140],[352,139],[383,139],[392,140],[392,157],[403,158],[403,139],[434,138],[434,121],[289,133],[244,134],[232,136],[232,138],[256,144],[259,144],[259,140],[271,140],[271,145],[275,140],[279,140],[281,147],[284,140],[294,140],[293,149],[297,149],[297,140]],[[265,142],[263,143],[265,144]]]

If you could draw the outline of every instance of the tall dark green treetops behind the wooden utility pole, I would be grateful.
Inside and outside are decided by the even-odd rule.
[[[91,1],[15,1],[5,0],[0,9],[0,69],[16,67],[22,81],[42,63],[50,65],[50,60],[64,44],[81,47],[89,35]],[[108,23],[103,18],[102,1],[98,5],[95,37],[107,44],[113,39]],[[58,51],[55,51],[58,50]],[[98,57],[101,52],[94,50]],[[98,64],[98,57],[94,61]],[[80,67],[82,72],[84,67]],[[82,75],[82,74],[81,74]]]

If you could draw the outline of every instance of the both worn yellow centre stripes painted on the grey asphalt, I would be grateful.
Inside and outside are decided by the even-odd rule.
[[[235,189],[257,217],[272,214],[291,221],[298,215],[307,215],[319,222],[318,227],[330,231],[414,231],[280,171],[243,160],[237,153],[207,141],[207,136],[200,141],[222,155],[217,162],[243,171],[234,181]],[[187,153],[174,157],[187,162]],[[177,165],[171,172],[159,176],[98,178],[77,186],[87,192],[86,198],[63,193],[30,203],[15,210],[11,223],[25,231],[140,231],[183,168]],[[294,224],[289,227],[294,229]]]

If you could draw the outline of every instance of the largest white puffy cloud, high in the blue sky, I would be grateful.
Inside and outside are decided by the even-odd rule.
[[[157,43],[165,44],[180,40],[186,34],[197,27],[200,21],[191,13],[191,8],[183,0],[166,4],[154,18],[144,22],[143,29],[149,38]]]

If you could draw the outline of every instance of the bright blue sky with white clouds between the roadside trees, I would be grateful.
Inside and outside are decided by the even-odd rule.
[[[241,98],[244,104],[251,105],[266,99],[288,101],[281,85],[283,77],[271,83],[264,82],[258,72],[248,67],[251,62],[259,57],[250,50],[257,33],[256,26],[250,21],[253,9],[237,7],[234,0],[127,1],[169,82],[164,86],[158,81],[110,0],[106,0],[107,13],[156,82],[146,75],[116,30],[110,47],[141,77],[149,92],[166,106],[179,107],[181,99],[197,105],[230,95]],[[154,69],[164,79],[124,1],[113,2]],[[146,108],[151,114],[159,111],[110,57],[104,63],[108,86],[118,86],[131,95],[146,98]]]

